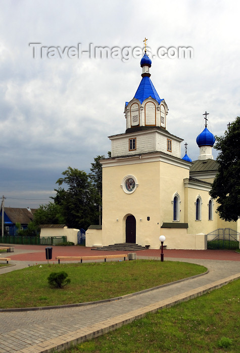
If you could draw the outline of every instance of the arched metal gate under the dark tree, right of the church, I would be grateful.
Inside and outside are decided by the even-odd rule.
[[[231,228],[218,228],[208,233],[208,249],[239,249],[239,234]]]

